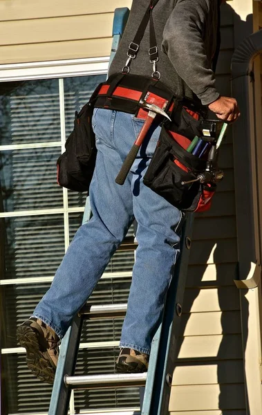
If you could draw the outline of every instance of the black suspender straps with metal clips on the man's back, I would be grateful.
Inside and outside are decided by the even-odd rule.
[[[138,50],[140,48],[140,43],[142,41],[142,38],[144,36],[144,32],[147,28],[147,24],[150,21],[150,48],[149,48],[149,57],[150,62],[153,64],[153,74],[152,77],[155,77],[156,79],[160,79],[160,73],[156,71],[156,62],[158,62],[158,46],[156,42],[156,32],[155,28],[153,26],[153,8],[156,6],[159,0],[151,0],[149,7],[147,8],[146,12],[144,13],[144,17],[140,23],[140,26],[138,28],[138,31],[133,39],[133,42],[129,44],[129,50],[127,52],[127,56],[129,57],[127,59],[127,62],[123,68],[123,73],[129,73],[130,72],[130,65],[132,59],[135,59],[136,55],[138,55]]]

